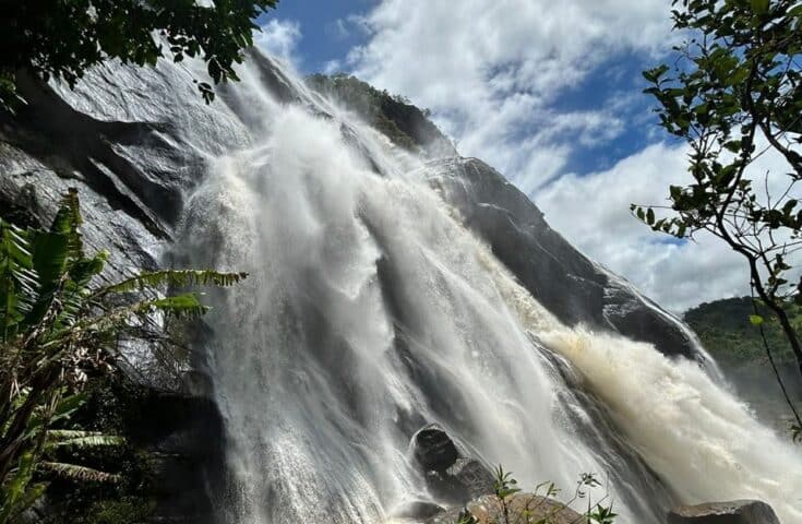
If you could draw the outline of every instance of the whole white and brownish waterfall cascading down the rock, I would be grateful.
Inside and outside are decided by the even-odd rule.
[[[622,523],[745,497],[801,522],[799,453],[698,365],[563,325],[429,167],[285,74],[297,103],[242,75],[252,143],[212,162],[183,228],[195,265],[251,275],[215,297],[206,342],[223,523],[384,522],[428,498],[407,454],[432,421],[524,486],[608,478]]]

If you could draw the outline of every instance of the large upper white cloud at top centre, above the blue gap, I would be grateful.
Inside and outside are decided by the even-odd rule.
[[[670,34],[663,0],[384,0],[361,20],[356,74],[432,109],[464,154],[527,189],[565,165],[566,136],[588,145],[622,130],[611,108],[550,104],[615,52],[656,52]]]

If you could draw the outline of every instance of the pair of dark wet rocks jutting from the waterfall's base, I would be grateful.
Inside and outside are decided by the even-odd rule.
[[[432,495],[447,503],[465,502],[493,491],[493,475],[480,461],[464,456],[438,425],[412,437],[412,453]]]

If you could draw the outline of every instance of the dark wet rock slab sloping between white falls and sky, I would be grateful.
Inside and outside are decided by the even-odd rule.
[[[585,323],[698,358],[679,320],[551,229],[529,198],[476,158],[430,162],[429,182],[529,293],[567,325]]]

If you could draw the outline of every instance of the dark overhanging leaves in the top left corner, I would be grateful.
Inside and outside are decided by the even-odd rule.
[[[238,80],[234,64],[253,44],[253,20],[278,0],[29,0],[5,2],[0,35],[0,108],[12,107],[20,71],[71,87],[109,59],[155,66],[163,57],[197,57],[217,84]],[[158,35],[159,37],[155,37]],[[214,99],[207,82],[197,83]]]

